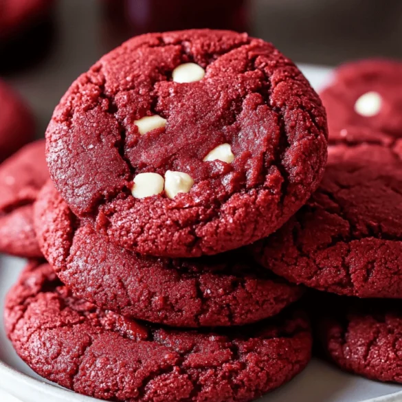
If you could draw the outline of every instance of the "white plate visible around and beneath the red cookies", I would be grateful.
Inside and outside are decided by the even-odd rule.
[[[314,87],[328,82],[329,69],[302,66]],[[0,257],[0,311],[5,293],[10,289],[25,264],[19,258]],[[0,388],[23,402],[91,402],[64,390],[36,375],[14,352],[0,325]],[[2,395],[1,402],[14,402]],[[331,364],[313,359],[298,377],[279,390],[260,399],[261,402],[401,402],[402,386],[379,383],[346,374]]]

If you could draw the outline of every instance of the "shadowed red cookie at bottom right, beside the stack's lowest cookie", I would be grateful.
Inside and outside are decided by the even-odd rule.
[[[396,300],[337,300],[319,324],[326,354],[343,370],[402,383],[402,314]]]

